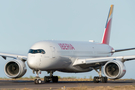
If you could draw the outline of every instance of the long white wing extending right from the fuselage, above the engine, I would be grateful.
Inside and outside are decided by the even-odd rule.
[[[75,62],[73,63],[73,66],[78,66],[78,65],[96,66],[96,65],[103,65],[111,60],[120,60],[122,62],[125,62],[134,59],[135,59],[135,55],[118,56],[118,57],[84,58],[84,59],[76,59]]]

